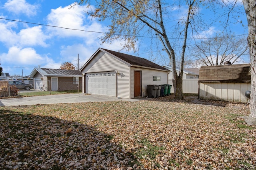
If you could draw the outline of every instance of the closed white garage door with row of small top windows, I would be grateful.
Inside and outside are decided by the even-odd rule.
[[[86,74],[85,92],[116,97],[116,72]]]

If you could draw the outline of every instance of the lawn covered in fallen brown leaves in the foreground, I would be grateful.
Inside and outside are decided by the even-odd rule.
[[[256,169],[245,104],[172,100],[0,107],[4,169]]]

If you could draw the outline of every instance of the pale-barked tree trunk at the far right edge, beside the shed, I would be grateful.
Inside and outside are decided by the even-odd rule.
[[[248,21],[248,46],[251,61],[250,115],[245,118],[249,125],[256,125],[256,2],[243,0]]]

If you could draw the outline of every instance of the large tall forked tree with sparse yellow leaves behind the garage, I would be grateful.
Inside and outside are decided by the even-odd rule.
[[[183,99],[182,95],[182,72],[184,67],[184,55],[186,50],[186,40],[188,36],[188,27],[191,18],[193,17],[194,6],[197,5],[196,0],[186,0],[187,15],[182,18],[182,53],[180,58],[180,74],[176,73],[176,57],[171,44],[171,37],[167,33],[166,20],[164,16],[168,16],[165,13],[165,6],[162,0],[100,0],[94,1],[96,9],[87,12],[92,17],[98,18],[100,21],[110,19],[108,34],[102,38],[102,42],[111,43],[117,39],[124,39],[125,44],[123,48],[127,50],[134,49],[136,51],[136,41],[140,32],[152,33],[155,35],[159,42],[162,43],[162,50],[166,52],[166,55],[170,59],[172,66],[173,87],[176,99]],[[90,0],[77,0],[76,4],[88,3]],[[76,5],[75,4],[75,5]]]

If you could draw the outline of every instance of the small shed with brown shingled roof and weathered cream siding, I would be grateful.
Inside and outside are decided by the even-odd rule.
[[[199,98],[246,102],[251,87],[250,64],[202,66],[199,72]]]

